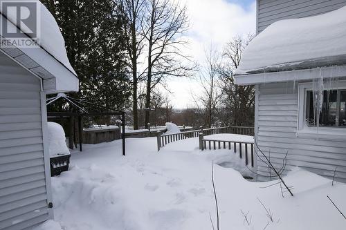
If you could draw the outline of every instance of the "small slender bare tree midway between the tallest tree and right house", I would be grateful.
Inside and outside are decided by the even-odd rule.
[[[198,74],[199,85],[202,88],[202,93],[199,97],[192,97],[197,104],[197,107],[201,108],[204,115],[204,124],[207,128],[211,128],[215,122],[217,116],[217,106],[221,99],[221,90],[219,88],[219,53],[213,50],[210,46],[210,50],[205,50],[206,61],[201,67]]]

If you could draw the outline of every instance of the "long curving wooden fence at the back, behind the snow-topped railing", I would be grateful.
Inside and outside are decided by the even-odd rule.
[[[172,134],[161,134],[161,131],[157,132],[157,151],[160,151],[160,148],[169,144],[171,142],[176,142],[179,140],[199,137],[199,133],[203,135],[212,135],[219,133],[233,133],[233,134],[242,134],[242,135],[253,135],[254,128],[248,126],[225,126],[219,128],[199,128],[194,131],[186,131],[181,133],[172,133]]]

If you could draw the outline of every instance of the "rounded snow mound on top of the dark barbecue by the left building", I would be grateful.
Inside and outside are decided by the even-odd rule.
[[[64,128],[55,122],[47,122],[48,124],[48,145],[49,155],[65,155],[70,154],[69,148],[65,142]]]

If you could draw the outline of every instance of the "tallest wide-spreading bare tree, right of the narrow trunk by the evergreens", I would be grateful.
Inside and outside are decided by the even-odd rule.
[[[145,107],[150,108],[151,93],[157,84],[166,88],[165,77],[188,75],[192,69],[182,63],[190,61],[181,48],[187,44],[181,35],[188,29],[186,8],[172,0],[147,0],[143,32],[147,42],[147,93]],[[145,124],[150,120],[145,112]]]

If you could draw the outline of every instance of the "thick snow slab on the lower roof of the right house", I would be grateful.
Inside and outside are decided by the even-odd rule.
[[[277,21],[246,47],[235,75],[346,64],[346,6]]]

